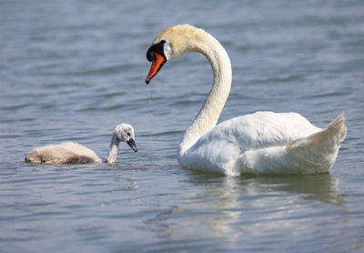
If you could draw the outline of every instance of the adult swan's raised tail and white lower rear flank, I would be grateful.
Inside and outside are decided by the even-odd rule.
[[[323,130],[292,141],[287,147],[247,150],[238,158],[242,173],[318,174],[329,172],[346,137],[344,114]]]

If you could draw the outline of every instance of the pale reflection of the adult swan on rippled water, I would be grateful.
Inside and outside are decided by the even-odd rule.
[[[225,247],[236,248],[247,234],[261,236],[264,235],[261,231],[294,230],[304,224],[315,224],[321,214],[312,212],[312,217],[305,217],[305,211],[300,210],[302,205],[315,206],[319,201],[328,212],[345,208],[339,179],[329,174],[286,177],[194,174],[189,179],[204,190],[185,197],[183,204],[145,220],[147,228],[161,238],[178,240],[197,229],[204,237],[217,238]],[[177,218],[179,222],[175,223]],[[346,217],[340,219],[342,223],[348,221]]]

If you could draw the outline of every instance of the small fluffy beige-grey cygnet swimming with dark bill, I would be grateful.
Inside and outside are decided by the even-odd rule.
[[[128,124],[116,126],[106,158],[106,163],[113,163],[116,160],[117,149],[120,142],[126,142],[135,152],[136,142],[134,140],[134,128]],[[35,164],[88,164],[101,163],[91,149],[74,142],[65,142],[58,145],[48,145],[33,149],[25,157],[26,163]]]

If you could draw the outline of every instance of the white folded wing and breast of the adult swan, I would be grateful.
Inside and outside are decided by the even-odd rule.
[[[308,137],[321,128],[313,126],[297,113],[257,112],[224,121],[180,157],[184,167],[219,172],[227,175],[240,174],[240,158],[250,151],[283,152],[298,138]]]

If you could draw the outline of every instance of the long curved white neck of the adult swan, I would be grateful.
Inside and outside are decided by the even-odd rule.
[[[207,57],[214,73],[214,82],[204,106],[201,107],[179,144],[178,157],[182,157],[201,136],[217,125],[218,116],[230,92],[231,63],[227,51],[212,35],[200,29],[199,32],[203,34],[197,41],[190,42],[188,51],[198,52]]]

